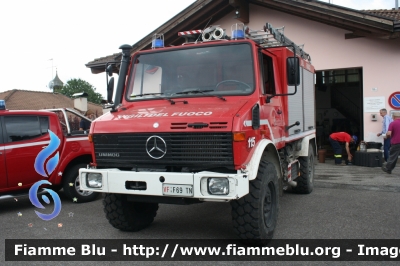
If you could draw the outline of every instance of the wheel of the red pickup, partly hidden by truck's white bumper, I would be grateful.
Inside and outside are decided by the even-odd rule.
[[[76,164],[69,168],[63,176],[64,194],[74,203],[83,203],[95,200],[99,193],[80,190],[79,168],[86,168],[86,164]]]

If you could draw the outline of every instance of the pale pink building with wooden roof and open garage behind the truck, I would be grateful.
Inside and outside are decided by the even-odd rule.
[[[266,23],[284,26],[287,37],[305,44],[316,69],[319,145],[334,131],[382,141],[376,136],[381,130],[379,109],[396,109],[389,105],[389,96],[400,94],[399,10],[359,11],[316,0],[198,0],[133,44],[132,53],[149,49],[156,33],[164,33],[166,45],[180,45],[180,31],[220,25],[231,35],[235,23],[257,30]],[[101,73],[106,62],[120,60],[120,54],[114,54],[87,67]]]

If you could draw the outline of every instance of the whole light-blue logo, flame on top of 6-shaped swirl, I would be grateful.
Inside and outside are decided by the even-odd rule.
[[[43,149],[41,152],[36,157],[35,160],[35,171],[46,178],[49,178],[51,173],[56,169],[58,161],[60,159],[59,152],[56,153],[52,158],[49,158],[60,146],[60,139],[57,137],[56,134],[54,134],[50,129],[48,130],[50,134],[50,143],[49,145]],[[48,159],[49,158],[49,159]],[[48,160],[47,160],[48,159]],[[46,163],[47,160],[47,163]],[[46,167],[45,167],[46,166]],[[36,182],[35,184],[32,185],[32,187],[29,189],[29,199],[32,202],[32,204],[40,209],[45,209],[45,207],[40,203],[38,197],[37,197],[37,192],[39,190],[39,187],[43,184],[51,185],[51,183],[47,180],[41,180]],[[37,216],[41,218],[42,220],[49,221],[53,218],[55,218],[61,211],[61,200],[60,197],[56,192],[54,192],[51,189],[44,188],[46,192],[48,192],[53,200],[54,200],[54,211],[50,214],[43,214],[38,211],[35,211]],[[42,195],[42,199],[44,202],[47,204],[50,204],[50,200],[46,195]]]

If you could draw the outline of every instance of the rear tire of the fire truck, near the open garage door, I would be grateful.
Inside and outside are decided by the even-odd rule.
[[[308,156],[299,157],[300,176],[295,180],[297,186],[293,191],[299,194],[310,194],[314,189],[315,156],[313,145],[309,145]]]

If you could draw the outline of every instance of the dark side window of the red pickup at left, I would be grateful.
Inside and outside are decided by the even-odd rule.
[[[5,116],[6,142],[22,141],[47,134],[49,118],[38,116]]]

